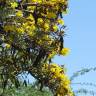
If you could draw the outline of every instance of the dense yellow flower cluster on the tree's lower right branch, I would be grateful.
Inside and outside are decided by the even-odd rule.
[[[57,64],[44,64],[41,73],[43,73],[45,78],[48,76],[48,86],[55,91],[56,96],[73,96],[70,80],[65,75],[62,67]]]

